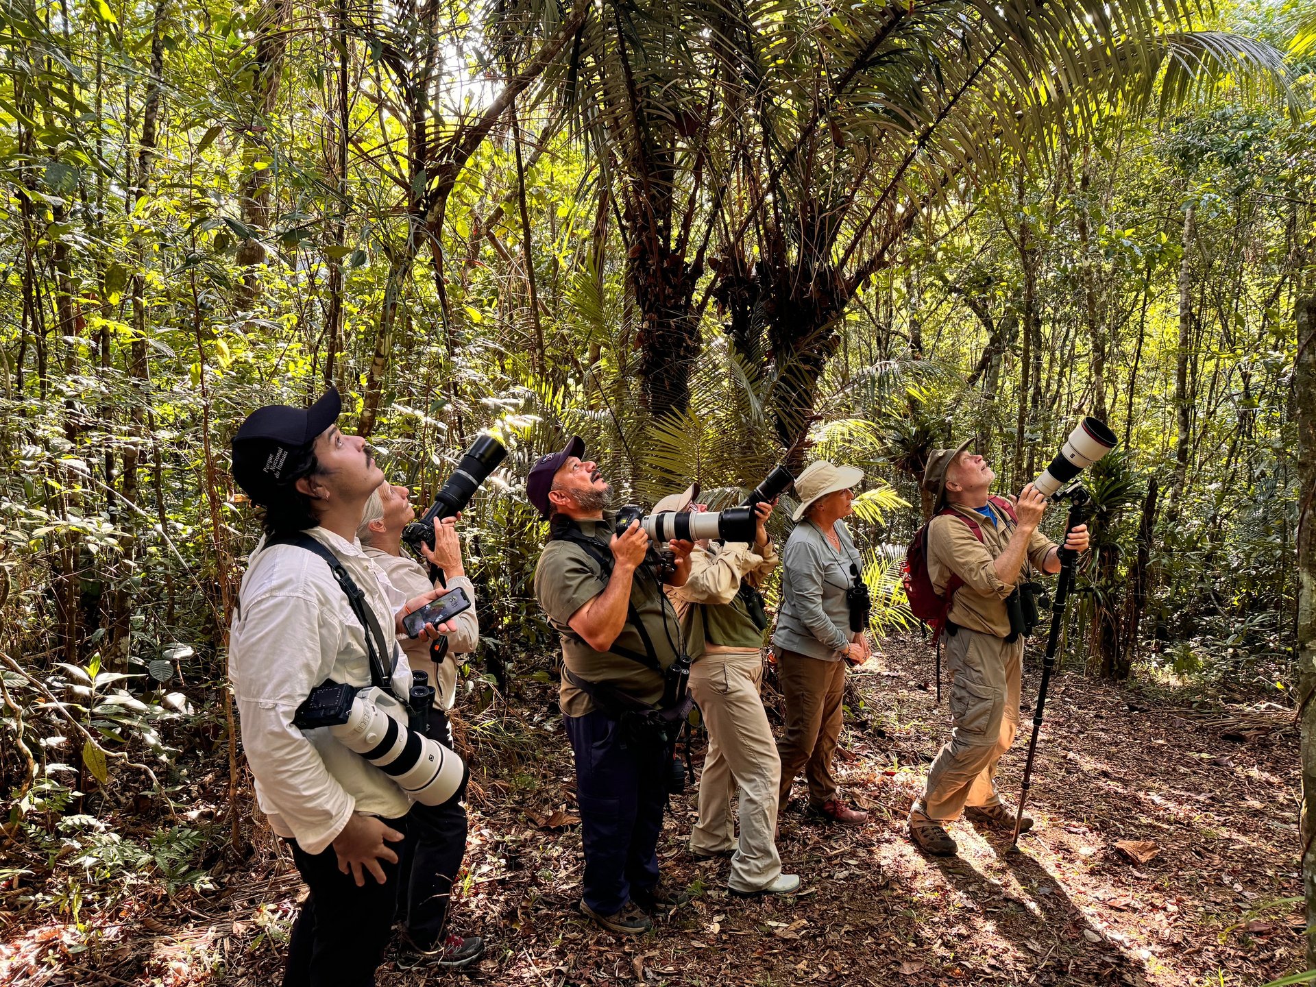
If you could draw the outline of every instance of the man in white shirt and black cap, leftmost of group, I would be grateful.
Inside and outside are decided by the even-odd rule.
[[[233,438],[233,478],[263,508],[267,540],[242,578],[229,674],[257,801],[290,841],[311,890],[288,942],[288,987],[374,984],[392,930],[399,841],[411,808],[387,774],[328,728],[295,726],[293,716],[326,680],[371,686],[371,650],[405,701],[411,670],[388,630],[401,633],[405,613],[446,592],[408,600],[362,551],[357,525],[383,471],[366,440],[334,425],[340,411],[330,390],[309,409],[259,408]],[[315,550],[291,544],[301,536]],[[317,545],[361,591],[355,605],[375,626],[363,626]],[[450,630],[426,625],[422,633]],[[479,940],[450,941],[436,959],[463,965],[482,951]]]

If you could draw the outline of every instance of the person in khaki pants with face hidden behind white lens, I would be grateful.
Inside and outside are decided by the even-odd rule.
[[[654,505],[663,511],[703,512],[692,503],[699,486]],[[755,507],[754,544],[695,544],[690,579],[669,587],[680,613],[690,669],[690,694],[708,726],[708,755],[699,780],[699,822],[690,851],[699,858],[732,854],[728,887],[737,895],[790,895],[800,888],[782,873],[776,853],[776,788],[782,762],[767,724],[759,688],[763,680],[763,632],[767,613],[758,587],[776,569],[766,521],[772,504]],[[740,788],[740,838],[732,820],[732,796]],[[734,851],[734,853],[733,853]]]

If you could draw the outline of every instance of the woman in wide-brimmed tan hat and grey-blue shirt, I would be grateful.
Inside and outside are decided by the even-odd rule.
[[[803,767],[809,807],[850,826],[866,822],[869,813],[841,801],[832,754],[841,736],[846,663],[858,665],[869,657],[863,633],[850,630],[846,599],[863,561],[841,520],[850,515],[850,488],[861,479],[863,474],[851,466],[820,459],[795,480],[800,505],[791,520],[797,524],[782,553],[782,609],[772,632],[776,675],[786,697],[786,733],[778,745],[779,804],[784,808]]]

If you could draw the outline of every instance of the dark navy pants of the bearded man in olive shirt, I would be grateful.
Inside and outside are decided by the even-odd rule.
[[[563,716],[576,766],[582,899],[599,915],[616,915],[633,892],[658,884],[658,834],[667,808],[661,747],[624,745],[621,728],[597,709]]]

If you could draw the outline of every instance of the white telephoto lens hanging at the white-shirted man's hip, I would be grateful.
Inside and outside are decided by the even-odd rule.
[[[399,788],[422,805],[441,805],[462,784],[466,767],[455,751],[400,724],[383,707],[401,703],[379,688],[367,688],[353,700],[347,722],[329,732],[347,750],[393,779]]]

